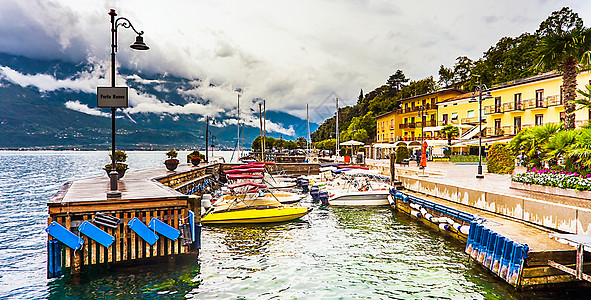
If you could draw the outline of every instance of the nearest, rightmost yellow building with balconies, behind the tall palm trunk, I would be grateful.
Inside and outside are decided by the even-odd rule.
[[[577,89],[584,89],[590,80],[591,73],[579,73]],[[528,127],[558,124],[564,118],[562,76],[556,72],[502,83],[489,91],[493,98],[486,104],[483,101],[487,136],[513,136]],[[589,114],[588,109],[577,110],[575,125],[587,124]]]

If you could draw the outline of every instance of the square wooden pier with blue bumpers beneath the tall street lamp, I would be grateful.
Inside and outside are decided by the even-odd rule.
[[[200,237],[195,235],[200,234],[198,226],[201,215],[198,196],[214,188],[215,181],[212,179],[219,176],[220,169],[220,164],[204,167],[192,167],[187,164],[179,166],[176,172],[167,171],[164,166],[131,171],[119,180],[122,196],[114,199],[106,197],[109,191],[107,176],[64,184],[47,203],[48,228],[59,227],[59,224],[73,233],[73,236],[82,239],[83,243],[77,250],[60,243],[57,252],[50,246],[48,262],[52,270],[49,277],[58,276],[59,274],[54,271],[61,270],[61,267],[71,270],[72,273],[79,273],[82,268],[90,265],[111,266],[197,254]],[[119,222],[114,226],[96,222],[97,213]],[[159,235],[156,237],[157,241],[150,244],[129,226],[130,221],[135,218],[144,225],[149,225],[153,219],[162,221],[174,228],[172,232],[177,230],[183,232],[183,235],[177,238]],[[93,225],[113,237],[112,244],[106,247],[98,238],[95,240],[92,236],[81,234],[79,228],[84,222],[94,223]],[[193,228],[187,224],[191,224]],[[186,230],[191,230],[191,235],[187,235],[184,232]],[[156,231],[154,230],[154,234]],[[55,237],[50,234],[48,239],[48,244],[51,245]],[[59,264],[59,268],[56,264]]]

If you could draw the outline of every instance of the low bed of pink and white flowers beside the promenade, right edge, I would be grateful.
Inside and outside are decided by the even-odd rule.
[[[591,191],[591,174],[584,176],[577,172],[533,168],[526,173],[513,175],[511,179],[525,184]]]

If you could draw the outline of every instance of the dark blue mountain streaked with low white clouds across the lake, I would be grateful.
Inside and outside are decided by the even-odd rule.
[[[197,107],[203,113],[213,107],[215,100],[187,92],[195,88],[197,79],[168,74],[132,75],[125,69],[118,73],[126,79],[130,90],[141,97],[130,105],[129,111],[116,113],[117,148],[205,146],[204,117],[198,111],[187,110]],[[95,92],[96,82],[104,82],[105,77],[108,74],[97,72],[97,66],[90,63],[46,61],[0,53],[0,149],[108,149],[111,145],[110,110],[96,107]],[[249,147],[260,131],[258,119],[252,121],[257,114],[245,111],[241,119],[250,119],[251,122],[246,123],[251,126],[243,128],[242,145]],[[238,129],[233,113],[232,109],[223,110],[219,112],[217,123],[210,124],[216,147],[235,147]],[[269,136],[288,140],[306,136],[306,121],[289,113],[267,111],[267,120]],[[318,124],[310,123],[311,131],[317,127]]]

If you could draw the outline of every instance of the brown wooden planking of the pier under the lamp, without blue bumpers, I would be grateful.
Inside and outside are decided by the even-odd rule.
[[[121,223],[116,228],[95,224],[114,237],[110,247],[104,247],[93,239],[79,234],[84,240],[82,249],[73,251],[69,247],[63,247],[62,267],[70,268],[73,273],[79,273],[82,266],[98,264],[110,266],[113,263],[129,263],[133,260],[154,257],[173,257],[188,252],[190,248],[182,246],[180,238],[172,241],[159,236],[156,244],[150,245],[127,226],[134,217],[146,225],[152,218],[157,218],[179,229],[180,222],[188,215],[187,209],[192,209],[198,214],[199,201],[175,190],[172,185],[178,186],[186,180],[192,180],[198,184],[199,180],[205,180],[209,175],[204,176],[205,168],[179,168],[181,172],[183,169],[190,172],[171,173],[164,168],[128,172],[119,182],[122,197],[115,199],[106,198],[109,190],[107,176],[64,184],[47,203],[48,225],[56,221],[76,233],[76,227],[84,221],[92,222],[97,212],[114,216],[120,219]],[[53,238],[49,236],[48,240],[51,239]]]

